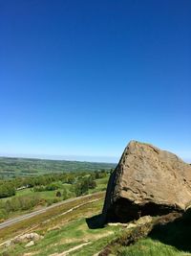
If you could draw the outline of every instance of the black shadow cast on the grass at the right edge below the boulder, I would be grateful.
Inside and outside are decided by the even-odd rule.
[[[191,210],[180,219],[166,224],[158,224],[150,232],[149,237],[162,244],[168,244],[179,250],[191,252]]]

